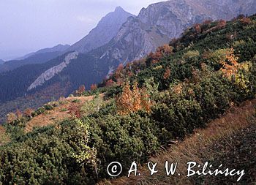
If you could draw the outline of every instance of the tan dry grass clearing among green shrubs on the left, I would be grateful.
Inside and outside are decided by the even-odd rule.
[[[103,94],[101,94],[101,97]],[[58,107],[55,107],[53,110],[47,110],[45,113],[35,116],[26,124],[25,132],[31,132],[34,127],[45,127],[48,125],[56,124],[65,119],[71,118],[68,113],[68,107],[70,103],[78,99],[80,104],[83,104],[86,101],[91,101],[94,99],[94,96],[90,97],[68,97],[63,104],[60,104]]]

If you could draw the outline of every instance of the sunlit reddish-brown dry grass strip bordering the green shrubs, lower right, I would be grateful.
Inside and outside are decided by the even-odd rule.
[[[239,129],[249,126],[248,117],[255,113],[256,99],[244,102],[241,107],[231,107],[224,116],[211,121],[206,129],[197,129],[195,134],[187,137],[183,142],[162,151],[158,156],[151,157],[149,161],[157,162],[159,173],[150,175],[148,168],[142,167],[137,177],[123,177],[113,181],[104,181],[99,184],[193,184],[187,175],[187,162],[202,163],[201,154],[211,150],[211,145],[217,140],[233,135]],[[211,153],[210,153],[211,154]],[[211,160],[211,155],[208,156]],[[181,175],[167,176],[165,174],[165,161],[178,162],[177,170]]]

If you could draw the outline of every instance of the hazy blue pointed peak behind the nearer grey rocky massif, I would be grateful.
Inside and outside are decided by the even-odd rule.
[[[108,13],[102,20],[99,21],[96,28],[90,31],[90,33],[76,42],[68,51],[78,51],[80,53],[87,53],[95,48],[99,48],[102,45],[110,42],[110,39],[116,36],[121,25],[127,21],[127,18],[135,15],[124,11],[121,7],[116,7],[114,12]]]

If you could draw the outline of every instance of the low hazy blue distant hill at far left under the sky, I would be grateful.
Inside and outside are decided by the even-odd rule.
[[[29,53],[26,56],[16,58],[12,61],[6,61],[0,66],[0,73],[7,72],[26,64],[42,64],[50,59],[56,58],[63,54],[63,51],[69,48],[70,45],[56,45],[53,48],[45,48],[34,53]]]

